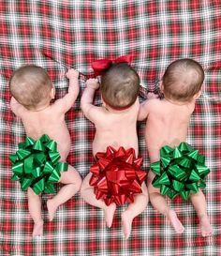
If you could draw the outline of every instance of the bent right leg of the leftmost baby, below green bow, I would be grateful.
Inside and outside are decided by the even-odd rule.
[[[71,165],[68,165],[68,170],[61,173],[61,179],[59,182],[66,185],[47,202],[50,221],[52,221],[58,206],[62,203],[66,203],[67,200],[72,198],[72,196],[80,190],[81,176]]]

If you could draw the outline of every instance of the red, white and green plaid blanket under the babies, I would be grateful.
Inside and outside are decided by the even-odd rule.
[[[13,256],[144,256],[221,255],[221,6],[219,0],[2,0],[0,2],[0,255]],[[169,221],[148,205],[133,221],[128,240],[121,229],[118,207],[111,229],[100,209],[77,194],[60,206],[54,220],[47,220],[43,195],[44,235],[32,238],[33,221],[27,195],[12,182],[8,155],[24,139],[21,120],[10,111],[8,78],[23,64],[46,68],[56,88],[56,97],[66,94],[66,69],[81,71],[81,93],[90,63],[103,57],[134,55],[132,66],[140,74],[140,101],[148,91],[157,92],[169,63],[190,57],[206,73],[202,95],[192,115],[187,142],[206,156],[211,169],[204,193],[214,228],[203,238],[199,220],[190,202],[168,200],[184,224],[183,234],[174,233]],[[68,162],[84,177],[93,162],[94,126],[80,110],[80,97],[66,114],[72,146]],[[96,95],[96,104],[100,98]],[[148,171],[149,159],[138,124],[140,156]],[[58,189],[59,187],[57,187]]]

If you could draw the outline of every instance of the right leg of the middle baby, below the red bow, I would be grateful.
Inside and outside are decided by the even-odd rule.
[[[133,219],[145,210],[148,203],[147,187],[144,182],[142,183],[141,188],[142,193],[134,197],[134,203],[129,203],[128,207],[121,216],[125,239],[127,239],[130,235]]]

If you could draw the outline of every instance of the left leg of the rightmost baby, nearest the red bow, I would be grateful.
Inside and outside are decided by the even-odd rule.
[[[169,218],[169,221],[176,233],[183,233],[184,226],[182,225],[179,218],[177,218],[176,213],[169,207],[165,197],[160,194],[159,189],[153,187],[152,181],[154,177],[155,174],[150,171],[148,174],[148,192],[152,205],[159,213]]]

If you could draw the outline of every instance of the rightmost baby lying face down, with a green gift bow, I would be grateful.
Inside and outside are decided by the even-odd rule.
[[[190,116],[195,108],[195,101],[200,96],[200,88],[204,80],[204,71],[198,62],[191,59],[181,59],[172,62],[167,68],[160,89],[163,99],[149,95],[140,104],[139,120],[146,120],[145,138],[151,163],[160,158],[160,148],[164,145],[178,146],[186,140]],[[148,173],[148,192],[155,209],[169,218],[176,233],[183,233],[184,226],[176,213],[169,208],[159,188],[154,188],[152,181],[155,174]],[[202,236],[212,233],[212,227],[206,213],[206,201],[202,191],[190,194],[199,216]]]

